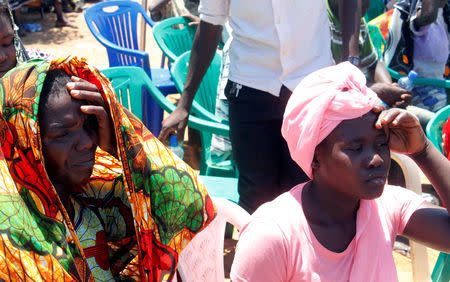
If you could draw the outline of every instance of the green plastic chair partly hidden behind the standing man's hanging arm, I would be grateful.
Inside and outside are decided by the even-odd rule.
[[[170,70],[173,81],[175,82],[175,87],[178,91],[180,91],[180,93],[183,91],[184,82],[186,81],[190,55],[190,51],[181,55],[172,65]],[[221,56],[216,53],[195,95],[195,99],[192,103],[192,114],[203,120],[228,124],[228,121],[223,121],[214,115],[216,109],[217,85],[219,83],[220,76],[220,64]],[[203,151],[200,164],[200,174],[236,177],[237,170],[235,169],[232,161],[227,161],[225,163],[221,162],[220,165],[212,161],[210,153],[212,134],[206,131],[201,131],[200,134],[202,138]],[[229,136],[228,133],[221,135]]]

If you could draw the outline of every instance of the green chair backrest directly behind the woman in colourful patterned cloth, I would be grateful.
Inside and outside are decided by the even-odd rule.
[[[142,120],[142,88],[147,80],[144,70],[136,67],[114,67],[102,70],[102,73],[111,81],[119,102]]]

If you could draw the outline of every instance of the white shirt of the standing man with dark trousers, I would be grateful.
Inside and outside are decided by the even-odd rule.
[[[325,0],[200,0],[200,18],[232,28],[229,79],[278,96],[333,64]]]

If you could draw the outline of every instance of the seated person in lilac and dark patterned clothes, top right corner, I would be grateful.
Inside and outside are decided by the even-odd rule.
[[[395,5],[383,60],[402,74],[414,70],[419,77],[443,79],[450,50],[450,13],[444,13],[444,8],[450,9],[448,1],[415,3],[408,0]],[[417,86],[413,89],[412,105],[436,112],[447,105],[446,91]]]

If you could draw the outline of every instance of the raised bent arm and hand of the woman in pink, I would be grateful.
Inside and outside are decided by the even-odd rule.
[[[384,111],[376,123],[377,128],[383,126],[389,134],[391,150],[414,160],[447,207],[423,204],[409,218],[403,235],[450,252],[450,162],[425,137],[419,121],[411,113],[399,109]]]

